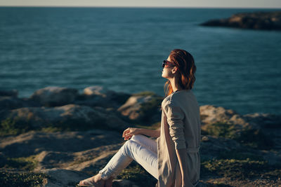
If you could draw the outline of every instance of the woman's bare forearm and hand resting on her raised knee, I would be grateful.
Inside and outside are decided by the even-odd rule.
[[[150,130],[150,129],[129,127],[126,130],[124,130],[122,137],[124,137],[124,140],[127,140],[136,134],[144,134],[147,135],[148,137],[159,137],[160,128],[158,128],[157,130]]]

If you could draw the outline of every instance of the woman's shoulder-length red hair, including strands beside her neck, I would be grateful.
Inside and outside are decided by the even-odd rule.
[[[181,49],[174,49],[169,55],[171,62],[178,68],[178,85],[184,90],[191,90],[195,83],[196,66],[190,53]],[[173,92],[170,81],[164,84],[165,97]]]

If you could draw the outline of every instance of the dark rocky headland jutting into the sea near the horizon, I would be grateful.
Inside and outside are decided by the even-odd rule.
[[[239,27],[244,29],[281,30],[281,11],[237,13],[230,18],[209,20],[201,25]]]

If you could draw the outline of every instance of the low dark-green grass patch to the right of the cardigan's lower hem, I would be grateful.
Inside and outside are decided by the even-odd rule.
[[[237,159],[213,159],[201,163],[202,174],[215,174],[231,179],[277,179],[281,175],[280,165],[268,165],[267,161]]]

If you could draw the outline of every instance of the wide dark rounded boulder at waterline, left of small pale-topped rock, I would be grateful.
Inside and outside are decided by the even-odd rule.
[[[35,91],[30,99],[42,106],[62,106],[74,102],[77,95],[78,90],[74,88],[49,86]]]

